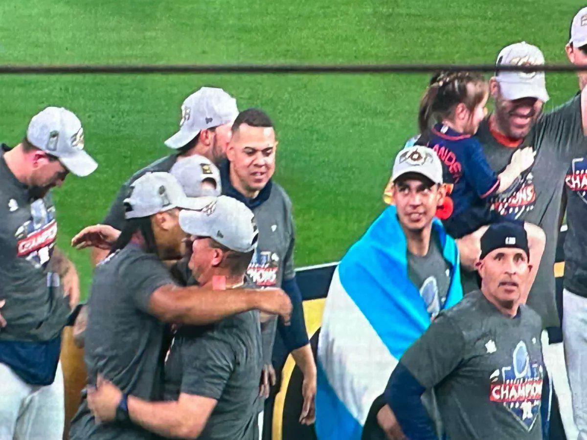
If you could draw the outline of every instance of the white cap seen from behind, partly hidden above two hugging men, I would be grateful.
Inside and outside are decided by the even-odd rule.
[[[199,154],[181,158],[171,167],[169,173],[180,182],[187,197],[217,197],[222,193],[220,171],[208,158]],[[203,188],[204,181],[211,181],[214,189]]]

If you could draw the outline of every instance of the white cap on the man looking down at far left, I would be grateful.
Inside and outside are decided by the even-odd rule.
[[[83,128],[77,116],[63,107],[47,107],[35,114],[26,130],[26,139],[59,162],[73,174],[85,177],[98,164],[83,151]]]

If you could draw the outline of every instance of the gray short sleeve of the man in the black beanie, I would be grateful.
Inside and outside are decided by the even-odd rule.
[[[433,388],[463,360],[463,333],[445,314],[439,314],[428,330],[403,354],[400,362],[425,388]]]

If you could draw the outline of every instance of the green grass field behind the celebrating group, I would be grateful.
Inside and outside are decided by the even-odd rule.
[[[509,43],[538,45],[565,62],[571,0],[0,2],[0,63],[492,63]],[[52,104],[82,120],[100,166],[55,191],[59,245],[77,264],[83,293],[89,253],[70,238],[99,222],[120,184],[169,154],[180,104],[203,85],[223,87],[240,109],[258,106],[280,140],[279,181],[294,202],[298,266],[339,259],[383,208],[396,150],[416,130],[426,75],[1,76],[2,140],[15,145]],[[547,77],[551,101],[576,90]]]

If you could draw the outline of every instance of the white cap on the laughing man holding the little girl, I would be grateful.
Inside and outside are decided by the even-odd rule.
[[[544,64],[544,55],[536,46],[525,41],[514,43],[501,49],[495,65],[528,66]],[[532,97],[546,102],[549,99],[546,92],[544,72],[504,72],[496,69],[495,78],[500,83],[500,90],[505,99],[514,100]]]

